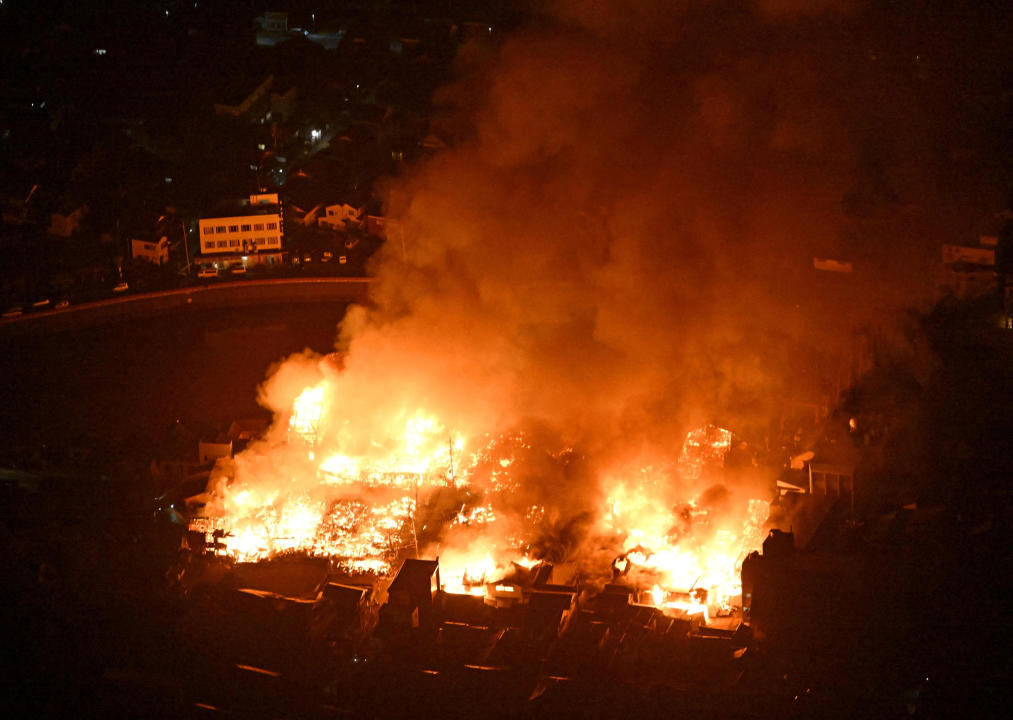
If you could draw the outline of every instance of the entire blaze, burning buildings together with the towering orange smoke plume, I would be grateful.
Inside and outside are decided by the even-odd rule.
[[[776,455],[772,418],[889,315],[861,278],[816,304],[796,272],[842,242],[860,88],[833,99],[763,8],[735,30],[754,56],[716,15],[562,5],[445,91],[452,142],[386,187],[402,241],[369,303],[337,352],[272,369],[274,423],[200,510],[229,561],[373,578],[395,629],[467,616],[436,632],[478,664],[505,647],[486,608],[559,610],[560,666],[733,632],[780,467],[752,449]],[[587,603],[519,581],[546,564]]]

